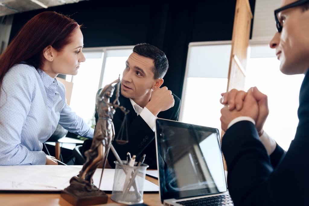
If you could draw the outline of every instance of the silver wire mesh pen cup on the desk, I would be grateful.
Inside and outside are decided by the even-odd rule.
[[[115,177],[111,199],[121,204],[140,204],[143,203],[144,182],[146,164],[134,167],[126,165],[126,161],[120,164],[115,161]]]

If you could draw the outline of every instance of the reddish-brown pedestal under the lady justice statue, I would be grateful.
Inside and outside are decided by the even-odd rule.
[[[62,191],[60,196],[74,206],[105,204],[108,201],[108,196],[102,190],[98,191],[97,196],[75,196],[66,191]]]

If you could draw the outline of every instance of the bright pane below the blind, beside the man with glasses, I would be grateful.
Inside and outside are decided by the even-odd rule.
[[[269,116],[264,130],[287,150],[298,125],[298,97],[304,75],[282,74],[279,65],[277,58],[248,59],[245,89],[256,86],[268,96]]]

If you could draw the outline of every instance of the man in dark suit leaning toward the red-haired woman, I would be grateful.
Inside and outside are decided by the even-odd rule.
[[[122,160],[126,160],[127,152],[136,155],[137,160],[146,154],[145,163],[151,169],[157,168],[155,119],[159,117],[177,121],[180,108],[180,99],[167,87],[160,88],[167,69],[168,60],[164,52],[146,43],[136,45],[125,62],[119,101],[121,106],[130,110],[126,117],[129,142],[123,145],[116,141],[112,143]],[[114,93],[111,102],[115,95]],[[97,120],[97,113],[95,118]],[[124,113],[116,109],[113,119],[115,138],[123,120]],[[123,138],[125,133],[124,131]],[[115,160],[114,154],[109,152],[108,162],[112,167],[115,167]]]

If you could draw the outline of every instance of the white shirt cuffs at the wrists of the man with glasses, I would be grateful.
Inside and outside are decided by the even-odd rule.
[[[240,121],[250,121],[255,125],[255,121],[251,117],[236,117],[230,122],[230,124],[227,126],[227,129],[229,129],[232,125]],[[260,140],[265,146],[267,153],[271,155],[273,151],[276,149],[277,143],[273,138],[269,137],[269,135],[264,130],[262,132],[263,133],[260,136]]]

